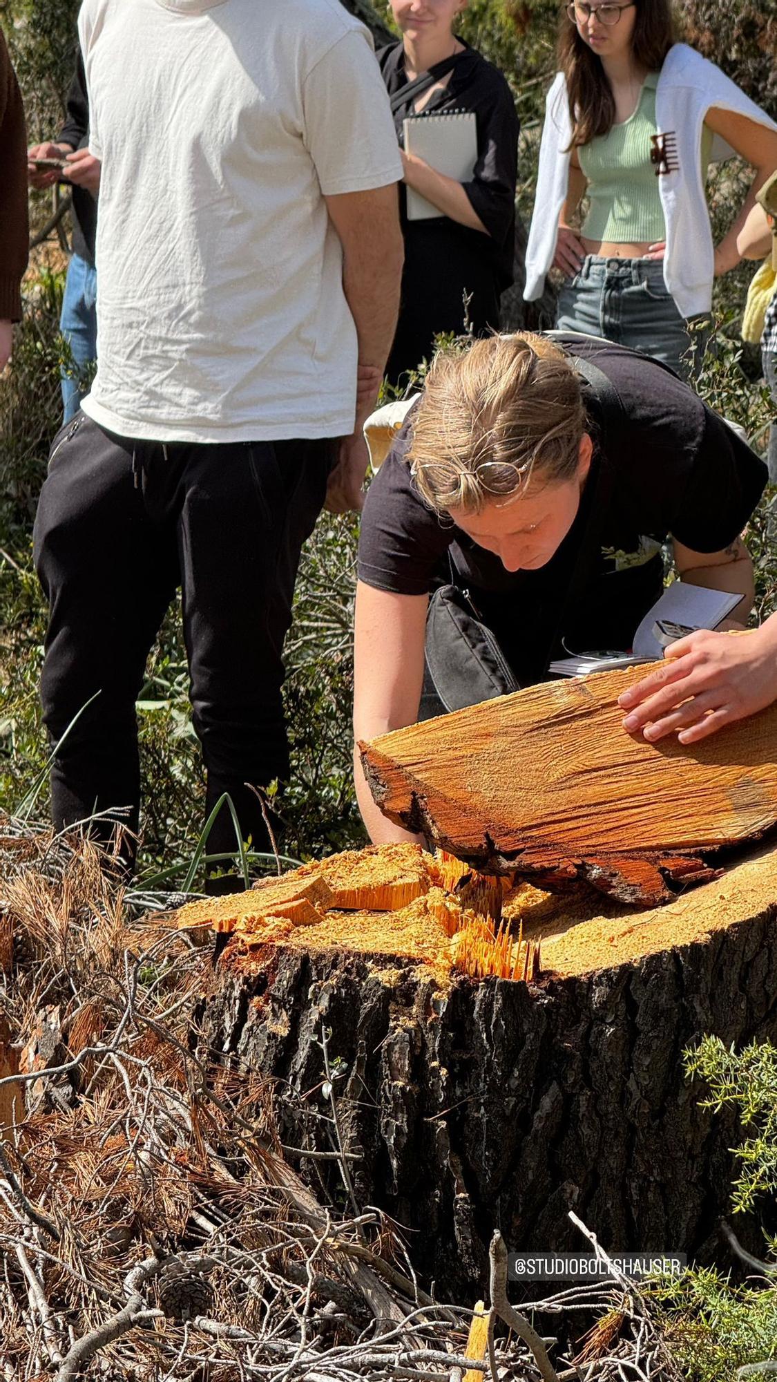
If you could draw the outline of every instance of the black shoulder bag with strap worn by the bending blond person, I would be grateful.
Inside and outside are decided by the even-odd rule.
[[[582,375],[590,384],[596,401],[601,405],[600,463],[588,524],[578,549],[567,598],[547,640],[543,674],[547,672],[547,663],[553,656],[556,640],[563,633],[567,615],[585,590],[586,576],[596,557],[612,491],[612,468],[604,448],[607,419],[610,415],[611,422],[624,412],[618,391],[597,365],[577,355],[571,357],[571,363],[578,375]],[[452,561],[451,575],[451,585],[440,586],[429,601],[424,650],[426,677],[445,710],[460,710],[467,705],[477,705],[480,701],[491,701],[494,697],[520,691],[520,685],[495,634],[484,623],[473,604],[469,590],[456,583]]]

